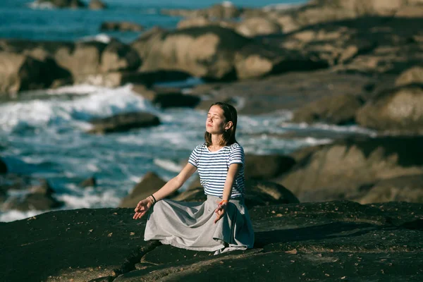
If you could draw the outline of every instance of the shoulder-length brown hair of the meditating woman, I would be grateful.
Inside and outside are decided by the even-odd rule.
[[[225,118],[225,123],[227,123],[228,121],[232,121],[232,127],[228,130],[225,130],[219,145],[227,146],[233,145],[233,143],[238,143],[235,139],[236,123],[238,120],[238,114],[236,112],[235,107],[223,102],[216,102],[212,104],[212,106],[214,105],[220,106],[220,108],[223,110],[223,117]],[[212,106],[210,106],[210,108],[212,108]],[[206,131],[204,133],[204,140],[206,141],[207,146],[212,145],[212,134]]]

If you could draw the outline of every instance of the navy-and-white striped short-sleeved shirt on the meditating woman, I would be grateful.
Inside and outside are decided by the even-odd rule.
[[[231,164],[242,164],[232,185],[231,199],[244,195],[244,149],[238,143],[210,152],[207,145],[195,147],[188,162],[197,167],[200,183],[206,195],[223,196],[228,168]]]

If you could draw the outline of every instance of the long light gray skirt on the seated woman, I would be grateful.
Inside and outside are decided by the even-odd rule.
[[[244,200],[230,200],[226,213],[214,223],[220,201],[209,195],[203,203],[160,200],[149,211],[144,240],[215,255],[252,248],[254,231]]]

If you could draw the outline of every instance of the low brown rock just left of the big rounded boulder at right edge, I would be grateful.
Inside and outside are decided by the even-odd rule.
[[[324,97],[295,110],[292,121],[337,125],[355,123],[355,114],[363,104],[363,98],[358,95],[340,94],[335,97]]]

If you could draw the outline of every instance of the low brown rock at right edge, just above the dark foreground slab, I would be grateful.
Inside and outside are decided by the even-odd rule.
[[[358,202],[360,204],[375,202],[423,203],[423,174],[381,180]]]

